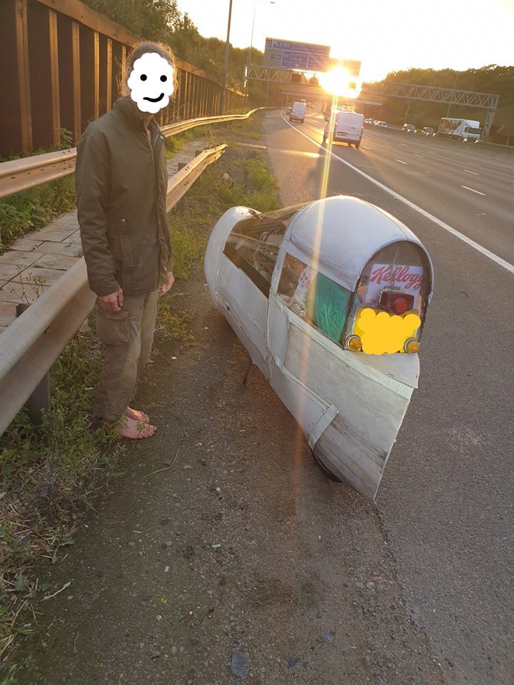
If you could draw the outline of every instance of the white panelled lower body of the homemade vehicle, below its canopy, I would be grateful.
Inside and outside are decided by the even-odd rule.
[[[249,214],[246,208],[228,210],[213,229],[205,258],[213,303],[298,421],[316,457],[373,500],[418,384],[418,355],[343,350],[282,303],[274,293],[283,259],[298,248],[288,241],[291,224],[266,298],[223,254],[233,225]]]

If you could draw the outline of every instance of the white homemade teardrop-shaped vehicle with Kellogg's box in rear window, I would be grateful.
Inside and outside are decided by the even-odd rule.
[[[336,196],[229,209],[208,241],[214,305],[326,475],[376,497],[418,386],[430,256],[400,221]]]

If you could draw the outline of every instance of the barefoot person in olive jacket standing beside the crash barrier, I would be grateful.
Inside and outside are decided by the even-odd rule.
[[[129,407],[150,357],[158,297],[173,285],[164,138],[153,114],[174,90],[173,54],[143,43],[127,61],[124,96],[77,143],[76,194],[96,333],[105,344],[95,415],[121,437],[151,437],[148,415]]]

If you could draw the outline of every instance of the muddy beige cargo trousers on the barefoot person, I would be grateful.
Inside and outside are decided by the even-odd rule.
[[[157,316],[158,289],[124,295],[121,311],[108,312],[95,304],[96,335],[105,345],[94,414],[117,421],[131,403],[151,352]]]

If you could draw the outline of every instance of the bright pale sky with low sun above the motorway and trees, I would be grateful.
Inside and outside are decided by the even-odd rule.
[[[229,0],[178,0],[203,36],[226,39]],[[231,43],[266,36],[331,46],[362,60],[361,78],[416,66],[458,70],[514,64],[514,0],[233,0]]]

